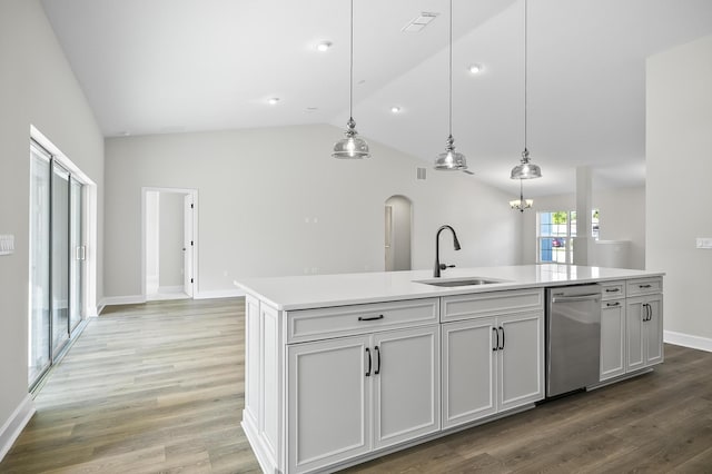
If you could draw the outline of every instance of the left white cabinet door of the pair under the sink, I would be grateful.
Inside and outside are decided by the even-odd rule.
[[[443,325],[443,428],[497,412],[496,330],[494,317]]]

